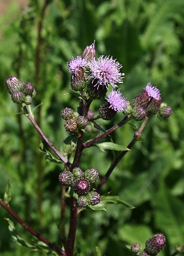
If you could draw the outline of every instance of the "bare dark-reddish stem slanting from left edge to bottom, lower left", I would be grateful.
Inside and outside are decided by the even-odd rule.
[[[0,200],[0,205],[4,209],[6,209],[6,211],[9,212],[9,214],[11,214],[12,217],[15,220],[17,220],[17,222],[19,222],[26,230],[28,230],[29,233],[31,233],[33,236],[36,236],[37,239],[39,239],[40,241],[47,244],[48,247],[50,247],[52,250],[54,250],[58,254],[67,256],[63,250],[61,250],[59,247],[56,247],[54,244],[52,244],[52,242],[49,242],[42,235],[40,235],[37,231],[35,231],[35,230],[33,230],[33,228],[29,227],[29,225],[26,222],[24,222],[22,219],[20,219],[20,217],[12,210],[12,208],[10,208],[10,206],[8,204],[6,204],[2,200]]]

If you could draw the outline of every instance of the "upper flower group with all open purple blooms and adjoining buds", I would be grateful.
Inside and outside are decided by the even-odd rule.
[[[109,85],[113,89],[107,96],[107,101],[99,108],[98,118],[111,120],[117,112],[123,112],[131,118],[140,121],[146,116],[158,114],[163,118],[170,117],[171,107],[162,103],[159,90],[147,83],[144,91],[136,98],[128,101],[121,95],[120,88],[116,83],[123,83],[124,73],[120,73],[122,68],[118,61],[109,56],[99,56],[96,60],[96,50],[94,44],[86,47],[81,56],[72,59],[67,63],[71,73],[71,88],[80,91],[87,99],[104,98]],[[85,91],[86,87],[86,91]],[[67,131],[75,131],[77,128],[84,128],[90,118],[74,113],[72,109],[64,109],[61,116],[66,120],[65,128]],[[91,118],[91,120],[97,119]]]

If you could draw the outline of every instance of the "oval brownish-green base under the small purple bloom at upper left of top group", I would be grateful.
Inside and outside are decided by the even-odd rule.
[[[71,77],[71,88],[74,91],[82,91],[85,88],[85,72],[82,67],[78,67],[75,74]]]

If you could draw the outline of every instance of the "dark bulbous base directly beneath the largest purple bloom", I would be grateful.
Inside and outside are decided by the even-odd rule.
[[[94,79],[88,83],[86,93],[88,93],[92,99],[102,99],[107,93],[107,87],[101,84],[97,84],[97,82],[98,80]]]

